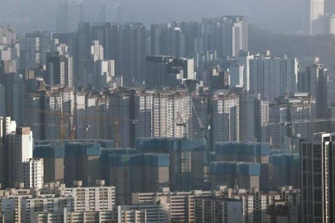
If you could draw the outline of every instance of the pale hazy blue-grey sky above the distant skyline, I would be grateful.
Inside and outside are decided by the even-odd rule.
[[[87,20],[96,17],[99,1],[84,0]],[[201,20],[218,15],[245,15],[250,23],[277,32],[294,32],[302,24],[303,0],[120,0],[124,21],[167,22]],[[54,0],[0,0],[0,18],[15,14],[30,25],[54,27]],[[4,19],[3,19],[4,20]],[[19,20],[20,21],[20,20]],[[1,20],[0,20],[1,22]],[[52,28],[53,28],[52,27]]]

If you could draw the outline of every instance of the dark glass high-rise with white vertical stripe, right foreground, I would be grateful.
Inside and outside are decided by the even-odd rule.
[[[316,133],[300,142],[301,222],[334,221],[335,133]]]

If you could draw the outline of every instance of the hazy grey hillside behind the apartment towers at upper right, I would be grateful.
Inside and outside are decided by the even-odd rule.
[[[322,63],[334,72],[335,37],[293,36],[274,34],[249,25],[249,50],[260,52],[269,49],[272,55],[292,55],[293,57],[319,57]]]

